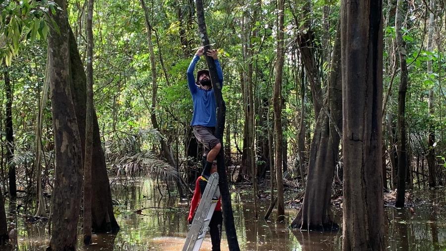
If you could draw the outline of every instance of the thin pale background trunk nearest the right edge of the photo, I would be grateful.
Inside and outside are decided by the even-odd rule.
[[[429,1],[429,7],[431,10],[434,10],[434,0]],[[435,19],[434,19],[434,13],[429,12],[429,32],[428,32],[428,44],[427,44],[427,50],[429,52],[433,51],[433,35],[434,35],[434,26],[435,26]],[[432,60],[429,60],[427,62],[427,71],[428,71],[428,78],[432,78]],[[428,162],[428,169],[429,169],[429,187],[435,188],[436,181],[435,181],[435,149],[434,149],[434,142],[435,142],[435,126],[432,123],[432,116],[434,114],[434,87],[429,89],[429,138],[428,138],[428,155],[427,155],[427,162]]]

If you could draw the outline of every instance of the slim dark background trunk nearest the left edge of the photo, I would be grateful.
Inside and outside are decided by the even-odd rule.
[[[7,68],[3,72],[4,76],[4,91],[6,93],[6,117],[5,117],[5,134],[6,134],[6,165],[8,167],[9,178],[9,197],[15,199],[17,197],[17,185],[15,183],[15,165],[9,164],[14,156],[14,131],[12,129],[12,95],[11,80],[9,79],[9,73]]]

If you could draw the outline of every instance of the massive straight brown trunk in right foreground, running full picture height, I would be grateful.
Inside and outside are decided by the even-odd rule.
[[[342,250],[385,250],[382,0],[342,0]]]

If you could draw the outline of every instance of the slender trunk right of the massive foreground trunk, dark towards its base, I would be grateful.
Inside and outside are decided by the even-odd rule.
[[[407,3],[404,0],[396,2],[395,30],[396,45],[398,46],[399,67],[401,68],[399,89],[398,89],[398,184],[396,188],[396,207],[404,207],[404,194],[406,191],[406,165],[407,165],[407,147],[406,147],[406,92],[407,92],[407,63],[406,63],[406,43],[402,38],[402,24],[406,13]]]

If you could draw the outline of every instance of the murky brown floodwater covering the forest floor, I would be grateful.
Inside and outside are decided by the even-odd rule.
[[[86,248],[79,238],[79,250],[132,250],[178,251],[182,249],[188,228],[187,199],[161,196],[156,183],[150,179],[116,184],[113,198],[119,202],[115,215],[120,231],[115,234],[93,235],[94,245]],[[165,191],[165,188],[162,188]],[[172,193],[173,194],[173,193]],[[446,198],[445,190],[414,191],[414,204],[405,209],[386,207],[385,232],[387,250],[392,251],[446,251]],[[261,201],[258,220],[255,219],[252,193],[243,188],[232,192],[232,206],[240,249],[244,251],[340,251],[342,233],[318,233],[289,229],[297,209],[289,209],[286,223],[263,220],[269,200]],[[141,214],[135,211],[142,209]],[[334,211],[335,221],[341,225],[340,212]],[[8,218],[13,221],[13,217]],[[48,225],[24,224],[17,218],[18,250],[45,250],[48,245]],[[79,224],[81,225],[81,224]],[[81,229],[79,236],[81,236]],[[15,250],[10,247],[10,250]],[[209,238],[203,251],[211,250]],[[228,250],[224,236],[222,250]]]

